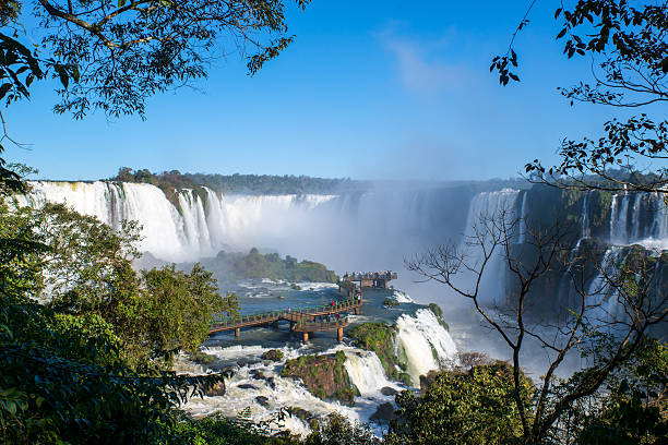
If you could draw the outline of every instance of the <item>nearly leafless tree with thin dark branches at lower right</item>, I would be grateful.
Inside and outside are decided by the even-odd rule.
[[[570,244],[564,242],[568,229],[527,226],[523,244],[529,252],[520,254],[518,221],[504,209],[492,216],[482,215],[474,234],[462,245],[440,246],[407,261],[407,267],[469,299],[485,323],[510,348],[512,399],[521,420],[523,443],[542,443],[548,438],[559,442],[563,438],[557,429],[560,420],[575,404],[604,388],[643,345],[648,329],[666,321],[668,296],[655,291],[652,267],[605,265],[599,273],[605,275],[605,286],[615,292],[621,308],[619,314],[612,314],[603,305],[600,289],[592,291],[584,286],[586,263],[570,257]],[[503,262],[511,279],[502,289],[503,304],[490,308],[482,302],[481,284],[496,258]],[[570,277],[578,301],[546,323],[532,313],[532,308],[545,304],[532,289],[554,269]],[[469,275],[470,282],[462,274]],[[532,341],[548,353],[548,363],[535,399],[527,404],[522,397],[523,352]],[[566,356],[583,348],[597,353],[566,382],[559,381],[557,376]]]

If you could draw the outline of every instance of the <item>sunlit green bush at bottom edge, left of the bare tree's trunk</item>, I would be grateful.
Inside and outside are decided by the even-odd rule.
[[[530,402],[534,387],[522,377],[521,397]],[[512,444],[522,435],[512,366],[504,362],[473,366],[467,372],[437,375],[421,397],[405,390],[396,396],[397,419],[387,444]]]

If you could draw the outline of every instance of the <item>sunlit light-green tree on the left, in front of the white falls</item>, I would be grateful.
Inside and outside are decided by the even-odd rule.
[[[176,351],[194,350],[214,317],[238,308],[236,297],[220,297],[216,280],[199,264],[190,273],[171,265],[138,275],[132,268],[139,255],[135,224],[115,231],[62,204],[46,204],[16,212],[5,206],[0,234],[2,229],[44,246],[39,254],[8,262],[4,282],[25,288],[26,296],[63,316],[100,317],[134,368],[163,366]]]

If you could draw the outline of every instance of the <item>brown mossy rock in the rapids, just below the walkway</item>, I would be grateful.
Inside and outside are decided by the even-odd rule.
[[[287,360],[281,376],[300,378],[309,392],[320,399],[335,399],[353,406],[359,392],[350,383],[345,361],[343,351],[334,356],[301,356]]]

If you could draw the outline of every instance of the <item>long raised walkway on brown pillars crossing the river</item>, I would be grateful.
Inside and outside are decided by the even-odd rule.
[[[278,327],[278,322],[286,321],[290,324],[290,332],[302,333],[303,341],[309,341],[309,335],[319,330],[336,330],[338,341],[343,340],[343,329],[348,326],[347,316],[342,316],[348,312],[359,314],[362,306],[362,299],[350,299],[313,308],[298,308],[287,311],[265,312],[253,315],[240,316],[237,318],[224,320],[214,323],[208,334],[234,330],[235,337],[241,335],[241,328],[273,326]],[[329,321],[318,321],[319,318],[333,318]]]

